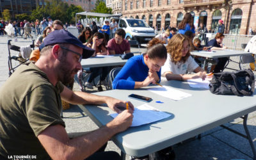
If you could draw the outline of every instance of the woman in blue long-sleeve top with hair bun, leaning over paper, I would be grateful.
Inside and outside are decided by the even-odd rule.
[[[154,44],[152,44],[154,43]],[[161,80],[161,67],[167,58],[166,47],[157,38],[153,38],[147,52],[130,58],[116,75],[113,89],[132,90],[159,83]]]

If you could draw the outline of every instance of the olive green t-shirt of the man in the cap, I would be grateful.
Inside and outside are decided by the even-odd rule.
[[[50,125],[63,125],[63,84],[53,86],[34,63],[20,65],[0,88],[0,157],[49,159],[37,136]]]

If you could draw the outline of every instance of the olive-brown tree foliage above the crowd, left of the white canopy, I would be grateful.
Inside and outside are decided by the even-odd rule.
[[[44,7],[37,6],[31,13],[31,19],[42,19],[43,17],[51,16],[52,20],[61,20],[63,24],[65,22],[73,22],[76,19],[77,12],[83,12],[81,6],[75,6],[71,4],[68,6],[67,3],[63,3],[61,0],[46,1]]]

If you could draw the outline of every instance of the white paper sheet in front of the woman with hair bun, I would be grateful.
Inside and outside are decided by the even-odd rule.
[[[159,86],[156,88],[149,88],[149,91],[153,92],[153,93],[157,93],[163,97],[169,98],[169,99],[173,99],[173,100],[180,100],[180,99],[184,99],[186,97],[190,97],[191,94],[189,93],[185,93],[182,92],[180,90],[175,90],[173,88],[170,88],[168,86]]]

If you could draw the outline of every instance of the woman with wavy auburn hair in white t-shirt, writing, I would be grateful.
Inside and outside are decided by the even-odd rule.
[[[190,56],[189,38],[182,34],[172,37],[166,46],[168,51],[167,60],[162,67],[162,76],[167,80],[180,80],[202,78],[205,79],[205,70],[203,70]],[[187,74],[195,72],[196,74]]]

